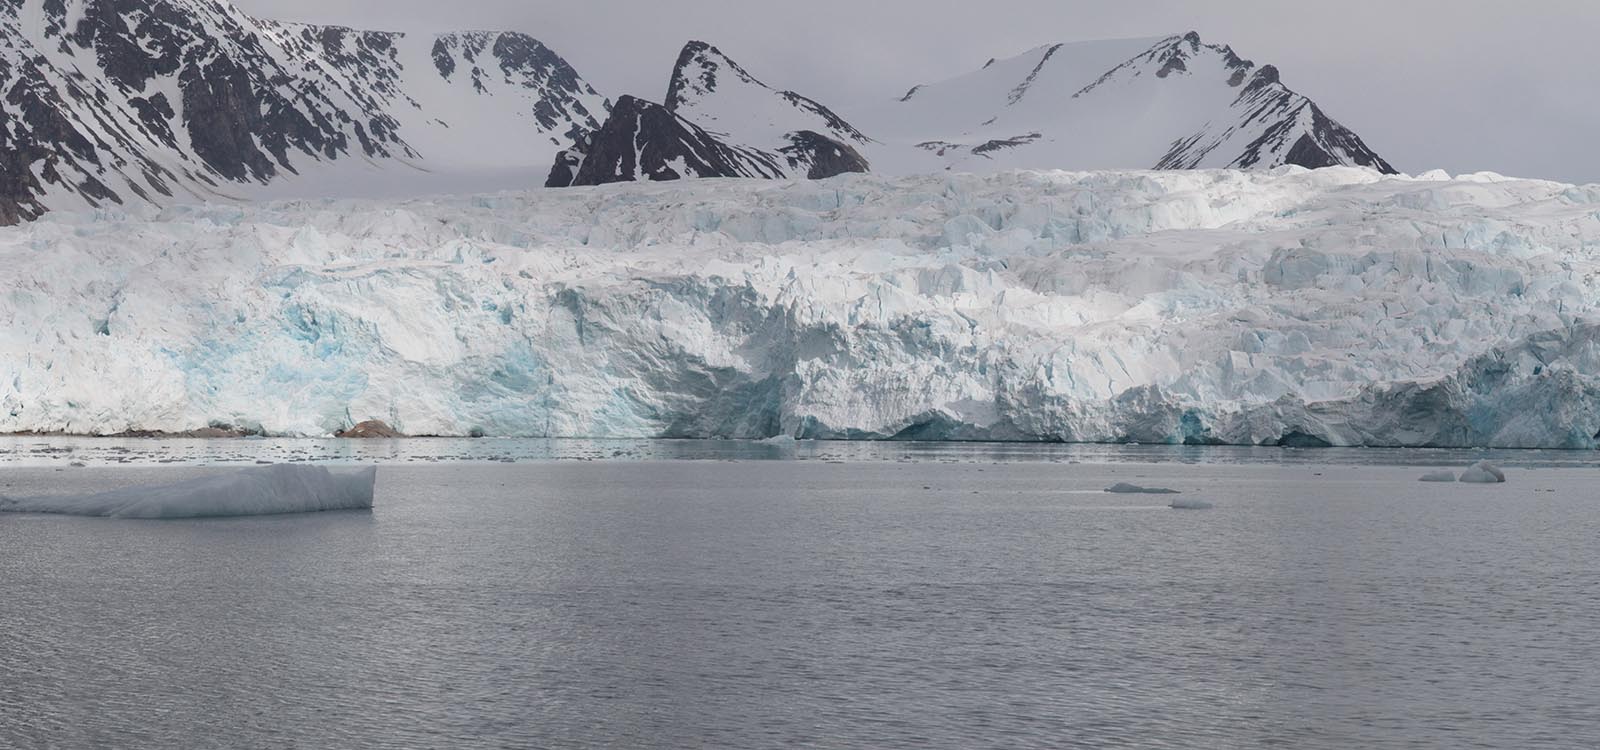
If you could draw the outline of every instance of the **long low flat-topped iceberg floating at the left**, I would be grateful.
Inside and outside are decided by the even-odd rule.
[[[315,465],[270,465],[200,477],[174,485],[56,497],[0,497],[0,512],[104,518],[221,518],[315,513],[373,507],[378,469],[333,472]]]

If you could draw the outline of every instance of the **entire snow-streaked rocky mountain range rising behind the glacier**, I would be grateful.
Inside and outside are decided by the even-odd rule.
[[[13,0],[0,5],[0,224],[299,189],[283,186],[338,197],[405,174],[426,187],[450,170],[467,178],[450,192],[472,190],[483,170],[525,170],[517,186],[530,187],[533,170],[549,187],[1283,163],[1395,171],[1275,67],[1195,32],[1045,45],[851,112],[690,40],[661,102],[632,96],[619,118],[571,62],[520,32],[270,21],[221,0]]]

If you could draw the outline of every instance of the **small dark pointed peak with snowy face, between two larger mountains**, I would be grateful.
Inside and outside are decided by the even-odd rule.
[[[682,178],[861,173],[870,141],[826,106],[762,83],[715,46],[690,42],[664,104],[627,98],[592,138],[557,155],[547,187]]]

